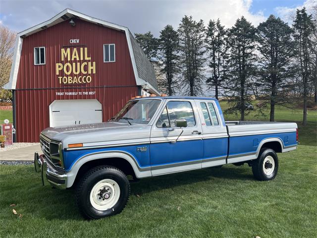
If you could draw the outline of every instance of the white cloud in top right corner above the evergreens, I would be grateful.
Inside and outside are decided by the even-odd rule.
[[[297,5],[294,7],[287,6],[278,6],[274,8],[274,11],[277,15],[286,22],[291,23],[292,18],[296,13],[296,9],[301,9],[306,7],[308,11],[313,8],[313,6],[317,6],[317,0],[306,0],[302,5]]]

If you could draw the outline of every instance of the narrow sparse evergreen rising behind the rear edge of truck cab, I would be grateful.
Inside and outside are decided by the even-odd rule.
[[[220,20],[210,20],[207,28],[206,43],[210,55],[211,77],[207,79],[207,83],[210,87],[214,87],[216,99],[218,99],[218,90],[225,75],[225,35],[226,32],[224,26],[220,24]]]

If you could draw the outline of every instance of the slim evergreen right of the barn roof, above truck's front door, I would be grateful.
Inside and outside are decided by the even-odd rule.
[[[166,25],[160,31],[159,37],[159,60],[161,62],[159,88],[162,92],[171,96],[177,87],[176,74],[179,71],[177,66],[179,51],[178,33],[171,25]]]

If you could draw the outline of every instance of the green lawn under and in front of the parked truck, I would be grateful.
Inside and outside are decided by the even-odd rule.
[[[122,213],[97,221],[79,215],[73,190],[41,186],[33,166],[1,165],[0,237],[316,238],[316,153],[279,154],[271,181],[247,165],[141,179]]]

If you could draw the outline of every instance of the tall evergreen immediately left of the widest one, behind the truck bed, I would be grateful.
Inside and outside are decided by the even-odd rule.
[[[226,90],[229,90],[228,112],[237,111],[241,120],[245,119],[247,104],[251,103],[251,83],[254,75],[255,28],[243,16],[237,19],[228,32],[229,77]]]

